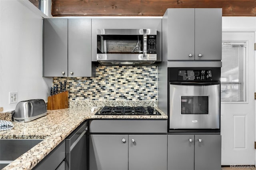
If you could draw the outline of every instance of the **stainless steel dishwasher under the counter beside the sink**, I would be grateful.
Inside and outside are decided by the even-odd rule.
[[[87,122],[66,138],[66,170],[87,169]]]

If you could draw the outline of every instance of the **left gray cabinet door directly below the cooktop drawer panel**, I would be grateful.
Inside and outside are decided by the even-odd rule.
[[[89,141],[90,170],[128,170],[128,135],[92,134]]]

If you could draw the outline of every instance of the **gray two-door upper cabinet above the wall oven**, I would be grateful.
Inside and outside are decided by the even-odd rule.
[[[221,8],[170,8],[162,22],[168,60],[221,60]]]

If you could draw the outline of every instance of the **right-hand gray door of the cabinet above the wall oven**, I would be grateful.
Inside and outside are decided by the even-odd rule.
[[[202,54],[202,57],[198,55]],[[195,59],[221,60],[222,9],[195,9]]]

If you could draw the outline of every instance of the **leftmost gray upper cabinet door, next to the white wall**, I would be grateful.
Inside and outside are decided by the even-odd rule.
[[[44,77],[68,75],[68,19],[44,19],[43,60]]]

